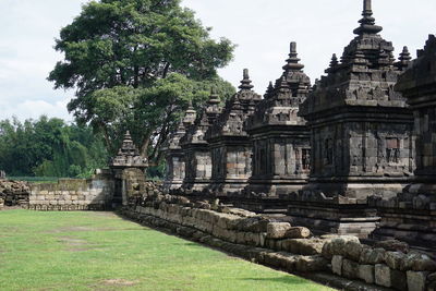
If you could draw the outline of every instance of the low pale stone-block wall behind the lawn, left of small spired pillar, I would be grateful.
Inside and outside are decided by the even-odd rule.
[[[105,210],[112,208],[114,182],[110,171],[93,179],[61,179],[58,183],[33,184],[28,208],[33,210]]]

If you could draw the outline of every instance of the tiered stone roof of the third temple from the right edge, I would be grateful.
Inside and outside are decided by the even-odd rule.
[[[299,106],[306,99],[311,80],[303,72],[296,53],[296,44],[291,43],[289,59],[283,66],[283,74],[269,84],[265,99],[259,102],[247,122],[250,130],[267,125],[304,125],[305,121],[298,117]]]

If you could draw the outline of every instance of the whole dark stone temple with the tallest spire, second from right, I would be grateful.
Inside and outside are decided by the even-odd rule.
[[[415,167],[413,114],[393,90],[410,56],[404,50],[395,62],[372,14],[365,0],[356,37],[300,108],[311,129],[311,178],[289,207],[302,223],[361,237],[379,219],[367,197],[395,196]]]

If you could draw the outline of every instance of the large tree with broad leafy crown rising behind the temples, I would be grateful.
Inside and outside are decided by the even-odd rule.
[[[189,100],[201,105],[210,85],[229,97],[234,88],[217,75],[232,59],[230,40],[214,40],[180,0],[90,1],[61,29],[64,53],[49,80],[76,88],[69,110],[90,123],[113,153],[130,129],[142,154],[158,149]]]

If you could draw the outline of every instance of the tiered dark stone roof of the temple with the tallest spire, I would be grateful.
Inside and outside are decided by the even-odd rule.
[[[354,29],[358,36],[344,48],[340,62],[334,54],[327,76],[304,102],[303,116],[340,106],[405,107],[393,85],[410,60],[407,48],[396,63],[392,44],[378,35],[383,28],[375,25],[371,0],[364,0],[362,15]]]

